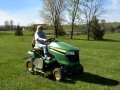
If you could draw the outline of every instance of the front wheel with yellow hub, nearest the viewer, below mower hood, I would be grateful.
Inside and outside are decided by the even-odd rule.
[[[55,68],[53,70],[53,77],[56,81],[60,82],[63,80],[63,73],[61,68]]]

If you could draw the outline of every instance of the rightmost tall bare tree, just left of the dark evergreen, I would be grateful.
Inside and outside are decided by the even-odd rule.
[[[87,39],[90,37],[90,28],[94,17],[98,17],[106,12],[104,9],[105,0],[84,0],[82,12],[86,21]]]

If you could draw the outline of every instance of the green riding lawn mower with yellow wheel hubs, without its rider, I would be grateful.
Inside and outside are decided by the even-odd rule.
[[[28,51],[30,58],[26,62],[27,70],[31,74],[42,74],[45,77],[54,77],[62,81],[67,74],[82,74],[83,66],[80,64],[79,49],[51,38],[47,48],[50,59],[44,57],[43,50],[34,47]]]

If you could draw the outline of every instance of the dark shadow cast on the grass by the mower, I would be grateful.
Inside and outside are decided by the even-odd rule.
[[[101,77],[99,75],[91,74],[88,72],[84,72],[82,75],[72,76],[70,78],[71,78],[70,80],[69,79],[65,80],[64,83],[75,84],[76,81],[79,80],[79,81],[86,82],[86,83],[100,84],[100,85],[105,85],[105,86],[106,85],[107,86],[116,86],[119,84],[119,82],[116,80]]]

